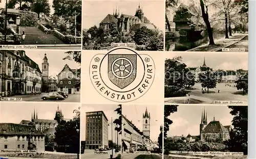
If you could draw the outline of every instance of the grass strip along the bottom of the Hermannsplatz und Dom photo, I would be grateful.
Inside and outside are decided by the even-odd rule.
[[[54,153],[15,153],[0,154],[2,157],[29,157],[29,158],[53,158],[53,159],[77,159],[77,154],[54,154]]]

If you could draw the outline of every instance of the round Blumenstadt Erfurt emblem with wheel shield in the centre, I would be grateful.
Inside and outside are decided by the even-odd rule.
[[[146,54],[138,54],[131,48],[115,47],[108,54],[97,54],[92,58],[90,78],[103,97],[129,102],[150,89],[155,78],[155,64]]]

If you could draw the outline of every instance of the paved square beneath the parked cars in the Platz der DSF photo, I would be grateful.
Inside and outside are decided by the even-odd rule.
[[[41,97],[48,93],[41,93],[36,95],[15,95],[12,97],[22,98],[23,101],[44,101],[44,102],[80,102],[80,94],[69,94],[69,97],[64,100],[42,100]]]

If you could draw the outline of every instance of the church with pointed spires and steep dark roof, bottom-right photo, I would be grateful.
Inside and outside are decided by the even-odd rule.
[[[225,141],[229,139],[230,125],[223,126],[220,121],[215,120],[208,123],[207,112],[202,111],[200,123],[200,140],[201,141]]]

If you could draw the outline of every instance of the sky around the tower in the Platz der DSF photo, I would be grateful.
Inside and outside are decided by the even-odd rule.
[[[40,70],[42,71],[42,59],[44,59],[45,54],[48,58],[49,63],[49,76],[57,77],[56,75],[63,69],[63,67],[68,64],[71,69],[80,68],[79,64],[71,60],[62,60],[66,57],[66,51],[64,50],[26,50],[26,55],[38,64]]]

